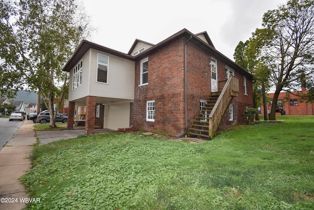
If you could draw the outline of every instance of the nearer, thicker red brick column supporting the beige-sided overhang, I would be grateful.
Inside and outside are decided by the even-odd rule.
[[[94,134],[96,96],[87,96],[86,109],[85,134]]]

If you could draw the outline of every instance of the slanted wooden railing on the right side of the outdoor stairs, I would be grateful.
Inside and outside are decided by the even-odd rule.
[[[212,139],[233,97],[238,96],[239,79],[230,75],[209,114],[209,137]]]

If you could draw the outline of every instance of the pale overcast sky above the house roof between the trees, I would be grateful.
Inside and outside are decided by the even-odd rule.
[[[134,40],[157,44],[184,28],[207,31],[233,59],[236,45],[262,27],[265,12],[286,0],[83,0],[97,32],[89,41],[128,53]]]

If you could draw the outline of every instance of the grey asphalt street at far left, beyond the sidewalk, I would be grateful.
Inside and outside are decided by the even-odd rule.
[[[2,150],[2,146],[12,138],[22,124],[23,121],[9,121],[9,116],[0,118],[0,150]]]

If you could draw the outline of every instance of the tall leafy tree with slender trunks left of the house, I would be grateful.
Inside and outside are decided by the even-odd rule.
[[[37,90],[54,127],[53,98],[69,79],[62,67],[92,30],[76,0],[0,0],[0,95]]]

